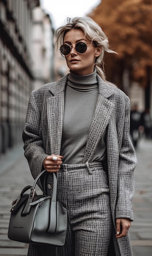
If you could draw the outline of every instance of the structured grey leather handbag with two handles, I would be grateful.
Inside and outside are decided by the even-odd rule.
[[[22,243],[49,244],[63,246],[66,241],[67,210],[56,200],[57,177],[53,173],[53,194],[37,195],[37,180],[46,171],[42,171],[33,186],[26,186],[18,198],[13,201],[9,222],[8,237]],[[25,192],[31,189],[29,194]]]

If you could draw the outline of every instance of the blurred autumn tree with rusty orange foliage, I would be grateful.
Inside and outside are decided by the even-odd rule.
[[[129,79],[147,86],[152,67],[152,0],[102,0],[88,16],[109,38],[119,56],[105,58],[106,76],[123,88]]]

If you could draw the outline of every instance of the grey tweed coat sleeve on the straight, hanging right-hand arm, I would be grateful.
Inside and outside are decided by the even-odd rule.
[[[121,120],[122,121],[122,120]],[[137,158],[130,141],[130,100],[126,98],[125,117],[123,124],[123,138],[119,151],[118,189],[116,218],[133,220],[132,199],[134,196],[134,168]]]

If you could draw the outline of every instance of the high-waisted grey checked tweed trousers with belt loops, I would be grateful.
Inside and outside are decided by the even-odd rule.
[[[62,164],[57,186],[57,199],[68,210],[66,243],[29,245],[28,256],[107,256],[112,219],[102,164]]]

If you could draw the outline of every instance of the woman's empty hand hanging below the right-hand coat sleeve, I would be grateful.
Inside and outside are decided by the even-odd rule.
[[[121,238],[128,234],[130,228],[130,219],[117,218],[116,219],[116,238]]]

